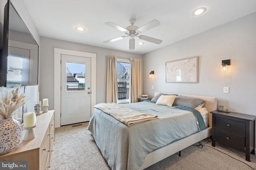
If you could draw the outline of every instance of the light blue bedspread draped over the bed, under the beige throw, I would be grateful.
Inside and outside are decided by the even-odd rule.
[[[196,118],[190,111],[150,102],[122,106],[158,115],[158,119],[128,127],[94,109],[88,130],[112,170],[136,170],[142,166],[146,154],[198,132]]]

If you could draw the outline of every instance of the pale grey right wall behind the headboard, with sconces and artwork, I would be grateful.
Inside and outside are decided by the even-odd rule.
[[[173,92],[217,97],[230,111],[256,115],[256,13],[194,35],[143,56],[143,94]],[[168,36],[168,35],[167,35]],[[165,63],[199,56],[198,83],[166,83]],[[228,73],[222,60],[230,59]],[[149,78],[149,72],[155,75]],[[154,90],[152,90],[152,85]],[[223,87],[230,87],[224,94]]]

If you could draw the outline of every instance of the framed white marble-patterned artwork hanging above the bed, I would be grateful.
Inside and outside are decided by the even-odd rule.
[[[197,83],[198,56],[166,62],[166,83]]]

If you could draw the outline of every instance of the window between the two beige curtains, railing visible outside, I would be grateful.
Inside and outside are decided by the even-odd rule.
[[[116,72],[118,103],[129,103],[130,60],[117,59]]]

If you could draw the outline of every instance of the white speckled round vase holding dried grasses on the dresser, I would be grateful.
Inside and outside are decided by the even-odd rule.
[[[0,154],[8,153],[22,142],[22,129],[19,121],[13,118],[0,120]]]

